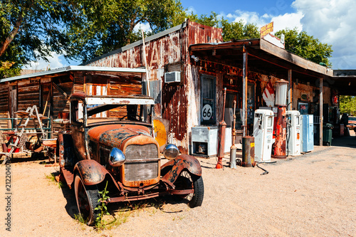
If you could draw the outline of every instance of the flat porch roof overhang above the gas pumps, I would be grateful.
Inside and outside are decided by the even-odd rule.
[[[248,70],[265,71],[278,75],[288,75],[292,70],[292,77],[315,80],[315,78],[332,77],[333,70],[318,63],[301,58],[283,48],[260,39],[230,41],[226,43],[202,43],[189,46],[191,55],[201,60],[222,63],[242,68],[244,51],[248,53]]]

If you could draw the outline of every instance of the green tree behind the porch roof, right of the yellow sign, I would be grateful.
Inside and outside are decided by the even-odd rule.
[[[331,45],[321,43],[318,38],[309,36],[305,31],[298,32],[298,28],[278,31],[276,36],[281,38],[282,33],[285,36],[284,41],[287,51],[314,63],[325,63],[328,67],[331,67],[329,60],[333,53]]]

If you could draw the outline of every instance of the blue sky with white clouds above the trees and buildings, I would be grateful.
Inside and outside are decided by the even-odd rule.
[[[215,11],[224,19],[255,23],[261,27],[273,21],[275,32],[283,28],[306,31],[322,43],[333,45],[333,69],[356,69],[356,1],[355,0],[250,0],[212,1],[181,0],[182,6],[194,14]],[[147,28],[148,25],[142,26]],[[61,68],[70,63],[53,53],[50,63],[39,61],[31,68]]]

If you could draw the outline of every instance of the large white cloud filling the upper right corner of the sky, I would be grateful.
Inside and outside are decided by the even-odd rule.
[[[295,0],[292,6],[303,12],[300,23],[308,35],[333,45],[334,69],[356,68],[355,0]]]

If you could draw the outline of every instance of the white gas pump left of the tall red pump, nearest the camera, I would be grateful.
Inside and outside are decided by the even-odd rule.
[[[255,162],[271,162],[273,144],[272,110],[256,110],[253,120],[253,137],[255,137]]]

